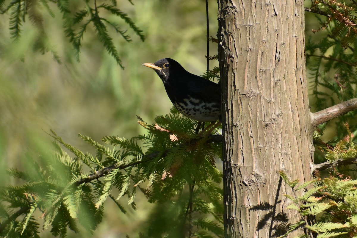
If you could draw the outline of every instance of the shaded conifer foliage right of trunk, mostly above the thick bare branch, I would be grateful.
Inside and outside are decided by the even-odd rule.
[[[314,13],[313,19],[318,24],[307,31],[306,67],[311,79],[310,105],[312,111],[319,111],[357,96],[357,2],[315,0],[305,10]],[[352,119],[355,117],[356,111],[338,117],[338,136],[334,142],[347,134],[346,121],[356,128],[356,120]],[[325,130],[326,126],[324,123],[319,130]]]

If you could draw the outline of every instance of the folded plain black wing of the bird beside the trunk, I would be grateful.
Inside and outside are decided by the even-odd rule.
[[[204,98],[207,101],[220,103],[221,86],[219,84],[193,74],[191,74],[189,78],[188,88],[191,93]]]

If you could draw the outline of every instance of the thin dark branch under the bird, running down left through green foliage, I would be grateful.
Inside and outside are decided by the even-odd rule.
[[[207,138],[199,138],[199,139],[193,139],[193,140],[190,140],[188,142],[185,142],[183,143],[182,145],[179,145],[179,146],[187,146],[187,145],[194,145],[195,143],[198,143],[200,142],[201,140],[206,140]],[[208,136],[208,139],[206,141],[206,143],[218,143],[218,142],[222,142],[223,140],[223,137],[222,135],[209,135]],[[120,165],[117,165],[117,164],[113,164],[111,166],[108,166],[108,167],[105,167],[105,168],[102,168],[101,170],[95,172],[95,173],[92,173],[92,174],[89,174],[86,178],[82,178],[82,179],[79,179],[75,185],[78,186],[82,183],[89,183],[90,181],[94,180],[94,179],[98,179],[100,177],[103,177],[103,176],[106,176],[107,174],[109,174],[113,169],[116,169],[116,168],[119,168],[119,169],[124,169],[124,168],[127,168],[127,167],[130,167],[130,166],[135,166],[137,164],[141,164],[141,163],[144,163],[144,162],[147,162],[147,161],[150,161],[151,159],[154,159],[158,156],[161,156],[161,157],[165,157],[169,152],[171,151],[171,149],[167,149],[163,152],[160,152],[160,151],[156,151],[156,152],[153,152],[151,154],[147,154],[147,155],[142,155],[141,157],[141,160],[140,161],[135,161],[135,162],[131,162],[131,163],[125,163],[125,164],[120,164]]]

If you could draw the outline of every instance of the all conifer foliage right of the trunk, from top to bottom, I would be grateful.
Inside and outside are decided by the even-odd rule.
[[[312,110],[322,110],[338,102],[356,97],[356,47],[357,47],[357,2],[315,0],[311,8],[320,27],[307,33],[306,59],[310,72],[313,99]],[[314,35],[322,34],[320,41]],[[326,128],[333,127],[337,133],[327,141],[323,139]],[[286,233],[300,231],[298,237],[357,237],[355,135],[357,133],[356,111],[338,117],[337,120],[319,125],[313,135],[316,153],[315,163],[340,161],[342,166],[330,167],[327,171],[313,169],[314,178],[304,184],[291,180],[284,171],[281,178],[292,188],[284,194],[291,203],[286,208],[298,211],[300,219],[288,223]],[[327,163],[325,162],[325,163]],[[346,166],[347,165],[347,166]],[[298,196],[297,191],[304,193]]]

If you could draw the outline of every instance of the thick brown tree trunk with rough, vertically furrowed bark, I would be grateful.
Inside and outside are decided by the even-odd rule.
[[[304,182],[313,155],[303,0],[218,0],[218,21],[226,237],[276,237],[297,219],[278,171]]]

